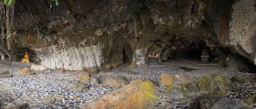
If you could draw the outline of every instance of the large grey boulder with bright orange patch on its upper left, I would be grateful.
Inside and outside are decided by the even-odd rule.
[[[165,94],[169,98],[191,97],[199,92],[195,83],[192,83],[183,74],[161,74],[158,84],[166,89]]]

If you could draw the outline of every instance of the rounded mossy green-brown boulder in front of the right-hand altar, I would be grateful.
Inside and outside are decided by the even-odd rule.
[[[204,74],[196,83],[200,91],[222,96],[227,96],[228,91],[234,91],[235,87],[234,83],[220,73]]]

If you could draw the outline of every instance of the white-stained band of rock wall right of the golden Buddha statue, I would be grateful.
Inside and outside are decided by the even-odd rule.
[[[48,50],[45,52],[45,50]],[[51,69],[84,70],[84,68],[101,67],[104,62],[102,47],[70,47],[66,50],[59,50],[56,46],[47,49],[39,48],[35,50],[41,65]]]

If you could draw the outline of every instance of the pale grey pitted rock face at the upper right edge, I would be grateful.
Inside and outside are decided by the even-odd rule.
[[[256,65],[256,13],[255,0],[240,0],[232,5],[233,12],[229,21],[228,40],[225,45],[250,59]]]

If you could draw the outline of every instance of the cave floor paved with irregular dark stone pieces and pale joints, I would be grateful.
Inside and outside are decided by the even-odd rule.
[[[240,93],[229,93],[227,97],[247,98],[256,92],[256,74],[238,71],[226,71],[220,65],[202,65],[198,61],[170,60],[164,62],[164,67],[156,68],[128,68],[125,63],[118,68],[106,73],[99,73],[100,85],[87,85],[88,91],[74,91],[67,88],[71,83],[77,83],[78,74],[76,72],[58,72],[49,70],[48,72],[35,71],[33,75],[19,75],[18,70],[29,66],[13,65],[9,61],[0,61],[0,68],[9,70],[13,77],[0,78],[0,108],[13,104],[29,103],[29,109],[81,109],[86,102],[95,100],[105,94],[115,92],[115,89],[103,84],[106,76],[121,75],[129,82],[136,80],[152,79],[157,81],[163,74],[184,74],[192,82],[196,82],[204,74],[221,73],[226,78],[240,75],[249,79],[252,85],[237,84]],[[150,109],[162,109],[171,105],[173,109],[186,109],[187,105],[175,104],[179,99],[170,99],[164,95],[164,89],[157,88],[159,102],[153,104]],[[54,104],[47,105],[46,101],[55,100]]]

